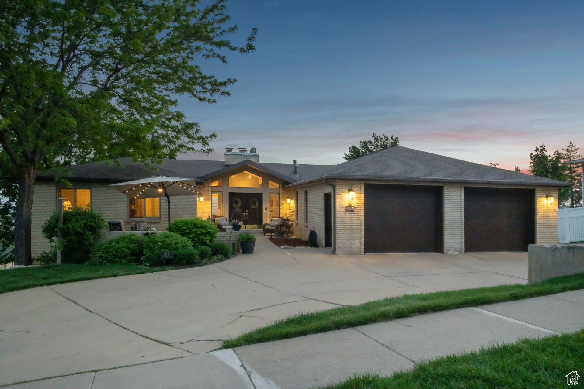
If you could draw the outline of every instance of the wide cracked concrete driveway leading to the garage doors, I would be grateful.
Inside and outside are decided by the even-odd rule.
[[[299,311],[527,282],[526,254],[333,255],[281,250],[267,237],[255,251],[201,268],[1,295],[0,386],[206,353]],[[226,366],[214,374],[233,374]]]

